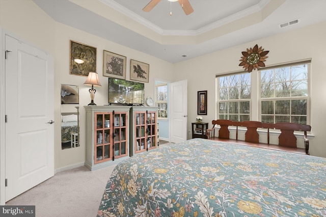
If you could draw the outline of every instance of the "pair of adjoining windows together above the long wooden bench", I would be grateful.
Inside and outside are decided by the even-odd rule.
[[[310,62],[216,75],[218,119],[310,124]]]

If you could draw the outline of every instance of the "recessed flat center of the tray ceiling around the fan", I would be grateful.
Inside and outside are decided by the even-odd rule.
[[[200,28],[222,20],[225,17],[230,17],[236,13],[247,11],[252,13],[253,9],[260,0],[189,0],[192,7],[195,9],[190,15],[185,15],[178,2],[169,2],[161,0],[150,12],[144,12],[142,9],[150,2],[150,0],[100,0],[104,4],[114,7],[117,10],[129,16],[138,15],[146,24],[151,22],[163,31],[182,30],[196,31]],[[120,6],[120,8],[119,8]],[[172,16],[170,12],[172,9]],[[257,9],[258,10],[258,9]],[[242,13],[243,13],[242,12]],[[246,12],[244,12],[246,13]],[[247,15],[247,14],[243,14]]]

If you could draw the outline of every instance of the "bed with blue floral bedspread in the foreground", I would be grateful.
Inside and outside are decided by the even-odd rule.
[[[118,164],[97,216],[326,216],[326,158],[192,139]]]

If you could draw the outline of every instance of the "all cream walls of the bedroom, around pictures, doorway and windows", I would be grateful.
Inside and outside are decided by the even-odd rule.
[[[208,115],[204,121],[215,119],[215,74],[241,70],[238,66],[241,51],[255,44],[269,50],[266,65],[312,58],[312,133],[310,152],[326,157],[323,141],[323,122],[326,114],[326,23],[319,23],[300,30],[271,36],[251,43],[242,44],[177,64],[154,58],[146,53],[121,46],[94,35],[53,21],[30,0],[0,0],[0,26],[20,39],[48,51],[55,58],[55,122],[61,120],[61,84],[79,86],[80,147],[61,150],[60,124],[55,125],[55,169],[57,171],[83,165],[85,161],[85,110],[90,101],[89,87],[83,85],[86,77],[69,74],[69,40],[97,47],[97,72],[102,87],[97,87],[95,103],[107,104],[107,77],[102,76],[103,49],[127,57],[129,79],[130,59],[150,64],[150,82],[145,84],[145,97],[154,94],[154,78],[177,81],[188,80],[188,129],[197,116],[197,91],[208,91]],[[254,34],[254,33],[253,33]],[[257,117],[255,117],[257,118]],[[211,126],[211,125],[210,125]],[[84,134],[83,134],[84,133]]]

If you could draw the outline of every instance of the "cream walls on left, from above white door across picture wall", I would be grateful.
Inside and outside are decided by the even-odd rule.
[[[74,40],[97,48],[96,68],[102,87],[96,87],[94,101],[107,104],[107,77],[103,76],[103,50],[127,57],[126,79],[129,79],[130,59],[150,65],[149,83],[145,83],[145,97],[154,97],[154,79],[173,80],[173,64],[146,53],[104,40],[86,32],[58,23],[30,0],[0,0],[0,26],[24,42],[43,49],[55,59],[55,169],[57,171],[84,165],[85,109],[90,102],[86,77],[69,74],[69,43]],[[61,149],[61,84],[79,86],[80,147]]]

